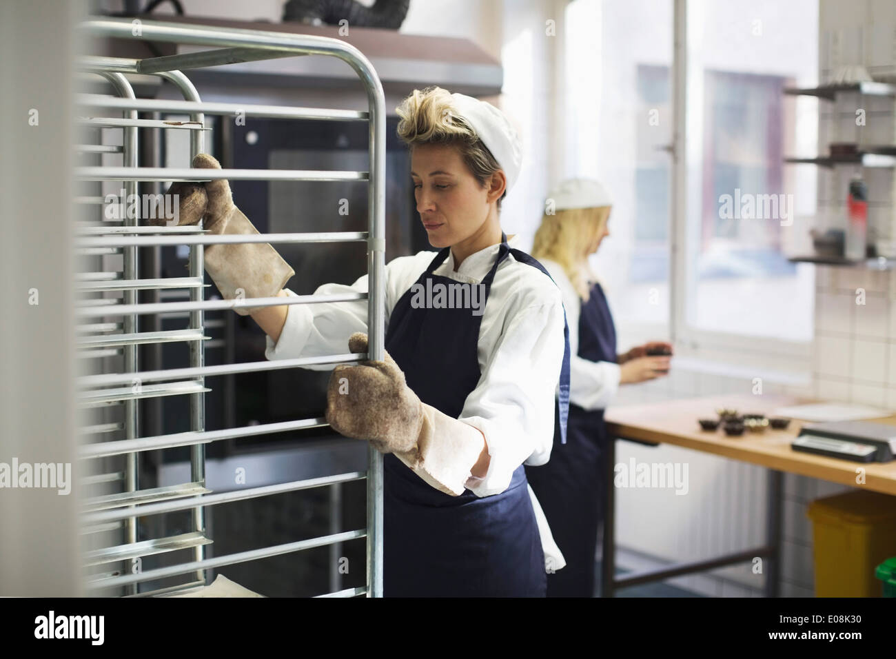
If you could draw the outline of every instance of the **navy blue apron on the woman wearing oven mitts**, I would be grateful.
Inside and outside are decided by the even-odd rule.
[[[421,274],[436,283],[457,284],[433,274],[448,256],[442,249]],[[485,299],[495,272],[508,254],[547,274],[534,258],[501,246],[484,285]],[[550,275],[548,275],[550,276]],[[472,309],[414,308],[411,290],[401,296],[385,336],[385,349],[404,371],[421,401],[457,419],[467,396],[478,385],[479,325]],[[569,391],[568,326],[562,381]],[[567,409],[557,403],[557,424]],[[556,425],[557,425],[556,424]],[[522,465],[510,486],[490,497],[464,490],[452,497],[423,481],[395,455],[383,456],[383,595],[386,597],[492,596],[546,594],[541,538]]]

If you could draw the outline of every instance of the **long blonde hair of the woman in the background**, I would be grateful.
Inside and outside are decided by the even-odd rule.
[[[535,232],[532,256],[554,261],[563,268],[573,289],[588,301],[590,282],[597,276],[588,264],[588,248],[598,238],[607,223],[610,206],[571,208],[545,213]]]

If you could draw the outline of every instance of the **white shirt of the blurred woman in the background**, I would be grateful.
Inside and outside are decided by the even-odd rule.
[[[569,400],[584,410],[603,410],[619,390],[620,368],[613,361],[591,361],[579,357],[579,314],[582,298],[573,288],[563,267],[547,258],[538,259],[563,294],[566,322],[569,323]]]

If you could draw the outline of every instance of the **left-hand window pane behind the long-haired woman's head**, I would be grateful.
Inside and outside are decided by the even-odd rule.
[[[610,236],[591,265],[620,336],[666,335],[672,3],[575,0],[565,23],[565,171],[556,178],[598,178],[613,196]]]

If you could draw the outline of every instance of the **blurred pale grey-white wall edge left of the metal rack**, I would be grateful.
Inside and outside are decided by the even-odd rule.
[[[0,3],[0,461],[7,467],[13,459],[20,465],[68,464],[73,479],[80,464],[74,438],[70,67],[77,51],[71,26],[81,10],[81,3],[55,0]],[[0,490],[0,596],[82,594],[77,515],[74,488],[68,495],[47,488]]]

